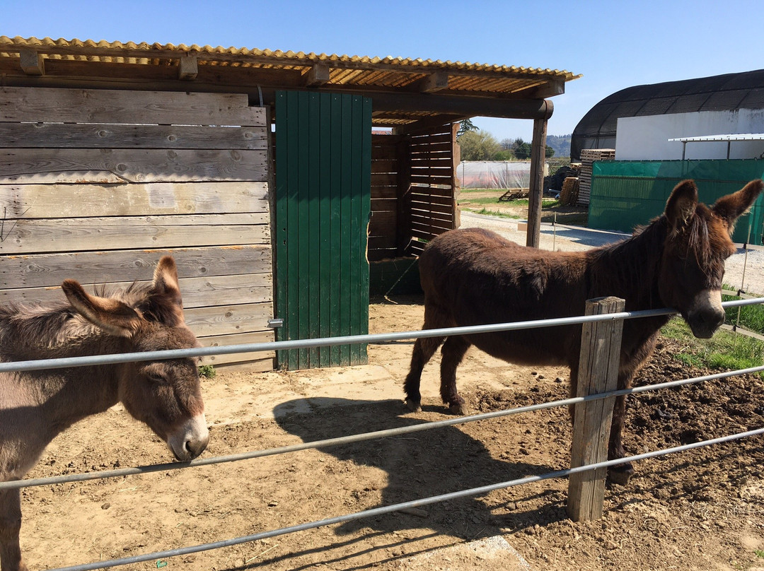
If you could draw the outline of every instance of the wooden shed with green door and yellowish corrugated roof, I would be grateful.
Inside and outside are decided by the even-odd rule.
[[[69,277],[150,279],[169,252],[204,345],[366,333],[369,263],[458,227],[457,121],[535,121],[538,244],[545,98],[576,77],[0,37],[0,300],[60,297]],[[365,361],[356,345],[284,351],[275,366]],[[212,363],[266,370],[274,355]]]

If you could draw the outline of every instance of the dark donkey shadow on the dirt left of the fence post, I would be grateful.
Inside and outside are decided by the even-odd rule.
[[[292,412],[305,411],[306,408],[312,413]],[[274,408],[280,427],[303,441],[427,422],[404,413],[406,410],[400,400],[365,402],[344,398],[309,398],[284,402]],[[341,444],[323,448],[322,451],[338,460],[351,460],[387,473],[387,486],[381,491],[380,505],[368,508],[487,486],[551,470],[549,466],[539,464],[497,460],[490,456],[480,440],[454,426]],[[352,492],[338,490],[338,493]],[[436,533],[474,540],[496,535],[502,527],[533,525],[534,520],[533,511],[496,516],[481,498],[468,496],[427,505],[413,513],[393,512],[348,521],[338,526],[336,533],[351,534],[364,527],[380,532],[427,528]]]

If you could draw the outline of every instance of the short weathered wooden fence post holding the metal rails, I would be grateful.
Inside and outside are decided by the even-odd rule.
[[[607,297],[586,302],[586,315],[623,311],[623,299]],[[613,391],[618,382],[623,319],[585,323],[581,334],[581,362],[576,396]],[[607,460],[610,421],[615,398],[575,405],[571,468]],[[568,516],[573,521],[602,517],[607,469],[571,474],[568,480]]]

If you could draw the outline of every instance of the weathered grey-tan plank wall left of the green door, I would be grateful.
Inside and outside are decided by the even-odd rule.
[[[0,303],[149,280],[171,253],[203,345],[273,340],[267,137],[247,95],[0,90]]]

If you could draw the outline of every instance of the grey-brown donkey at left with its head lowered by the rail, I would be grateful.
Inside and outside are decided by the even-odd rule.
[[[183,321],[175,262],[164,256],[154,282],[108,297],[63,282],[68,303],[0,308],[0,359],[23,361],[198,347]],[[196,360],[173,359],[0,373],[0,481],[20,479],[57,434],[121,402],[167,442],[178,460],[192,460],[209,432]],[[0,490],[2,571],[21,563],[18,489]]]

